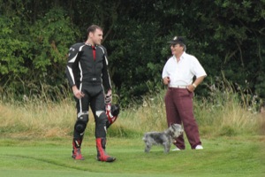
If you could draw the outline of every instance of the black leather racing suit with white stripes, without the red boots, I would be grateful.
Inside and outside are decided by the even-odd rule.
[[[73,140],[80,146],[88,122],[89,106],[95,117],[95,137],[106,137],[104,89],[111,89],[107,51],[102,45],[95,47],[85,42],[72,45],[69,50],[66,76],[70,86],[76,85],[85,96],[76,100],[77,121]]]

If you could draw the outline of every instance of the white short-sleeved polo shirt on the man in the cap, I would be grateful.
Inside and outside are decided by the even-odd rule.
[[[198,59],[184,52],[179,62],[175,56],[168,59],[163,67],[162,78],[170,77],[169,87],[174,87],[190,85],[193,83],[193,76],[199,78],[206,75]]]

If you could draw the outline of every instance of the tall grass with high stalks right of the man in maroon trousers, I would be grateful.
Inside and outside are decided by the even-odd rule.
[[[194,102],[202,134],[264,135],[265,117],[257,112],[260,105],[240,88],[234,90],[231,83],[224,79],[219,88],[211,89],[208,99]]]

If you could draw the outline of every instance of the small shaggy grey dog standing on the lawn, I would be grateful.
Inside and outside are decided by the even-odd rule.
[[[168,153],[172,142],[179,135],[183,134],[183,128],[179,124],[171,124],[168,129],[163,132],[148,132],[145,133],[142,140],[146,143],[145,152],[149,152],[152,145],[163,145],[163,151]]]

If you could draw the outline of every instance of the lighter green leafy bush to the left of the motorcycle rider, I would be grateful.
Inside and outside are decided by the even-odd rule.
[[[0,17],[1,94],[54,96],[67,86],[64,68],[68,46],[75,40],[74,30],[63,9],[50,9],[34,24],[25,17]]]

